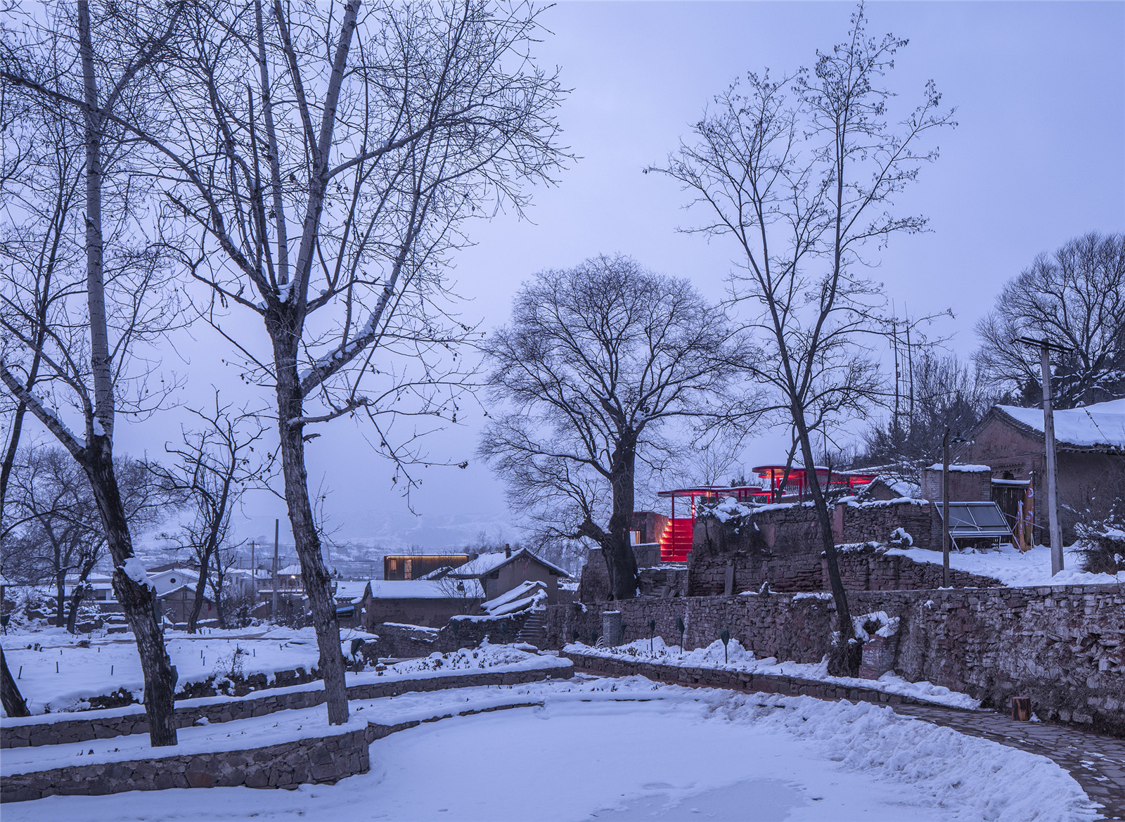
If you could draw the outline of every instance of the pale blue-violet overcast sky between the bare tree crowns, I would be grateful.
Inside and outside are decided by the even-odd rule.
[[[736,76],[768,66],[809,65],[847,30],[850,3],[564,2],[542,17],[544,65],[558,65],[573,92],[559,120],[578,160],[557,187],[534,192],[533,220],[501,216],[470,227],[476,245],[456,258],[467,318],[485,329],[506,319],[521,281],[544,268],[597,253],[630,254],[722,296],[731,249],[677,233],[691,217],[673,181],[645,175],[673,150],[704,105]],[[870,31],[909,38],[889,85],[903,103],[933,78],[960,127],[942,136],[940,160],[901,199],[930,217],[932,233],[899,237],[875,277],[911,313],[952,308],[940,333],[960,354],[1002,283],[1036,253],[1090,231],[1125,228],[1125,4],[1118,2],[880,2]],[[900,308],[901,311],[901,308]],[[219,347],[200,332],[190,396],[226,383]],[[182,370],[182,367],[181,367]],[[435,455],[470,467],[426,469],[413,517],[389,485],[392,468],[349,421],[321,427],[309,477],[325,476],[327,511],[342,539],[460,544],[480,529],[519,538],[503,486],[472,458],[479,413],[438,435]],[[158,454],[178,433],[174,416],[122,431],[126,450]],[[782,459],[775,436],[749,443],[746,466]],[[249,500],[246,534],[272,531],[285,513],[262,495]]]

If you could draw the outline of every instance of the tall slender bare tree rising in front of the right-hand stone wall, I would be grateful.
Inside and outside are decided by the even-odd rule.
[[[861,4],[847,39],[818,52],[812,72],[782,80],[752,73],[731,85],[693,127],[693,142],[654,169],[678,180],[709,215],[693,231],[735,241],[732,299],[749,309],[748,329],[764,347],[750,372],[773,390],[807,471],[817,462],[814,432],[827,448],[835,423],[864,416],[881,398],[864,336],[883,331],[883,298],[860,273],[863,251],[925,228],[921,217],[894,216],[893,200],[936,157],[919,144],[952,124],[933,82],[917,108],[888,123],[892,93],[880,80],[906,40],[868,38],[865,25]],[[860,647],[828,504],[818,484],[810,490],[839,618],[829,669],[854,675]]]

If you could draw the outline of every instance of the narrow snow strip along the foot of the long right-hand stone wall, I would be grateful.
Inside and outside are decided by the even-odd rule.
[[[980,707],[980,699],[974,699],[968,694],[950,690],[944,686],[933,685],[927,681],[911,683],[891,671],[888,671],[879,679],[855,679],[853,677],[828,676],[827,658],[814,663],[778,662],[774,657],[757,659],[754,656],[754,651],[742,648],[742,644],[738,640],[730,641],[730,644],[727,647],[726,657],[723,657],[722,642],[719,640],[716,640],[706,648],[683,651],[680,645],[666,645],[659,636],[654,636],[652,640],[637,640],[636,642],[616,648],[591,648],[590,645],[576,643],[567,645],[564,650],[595,657],[656,662],[658,665],[670,665],[681,668],[717,668],[754,674],[786,674],[791,677],[819,679],[848,687],[872,688],[888,694],[912,696],[916,699],[932,702],[937,705],[963,708]]]

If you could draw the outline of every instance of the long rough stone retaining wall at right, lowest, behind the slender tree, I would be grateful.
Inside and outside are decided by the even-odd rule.
[[[960,588],[853,591],[853,615],[885,611],[900,618],[894,670],[1006,708],[1028,696],[1041,719],[1125,735],[1125,590],[1120,586]],[[610,604],[548,608],[547,647],[578,631],[600,631]],[[639,597],[612,603],[627,642],[657,635],[687,648],[708,645],[723,629],[759,658],[817,662],[827,652],[834,605],[826,595]]]

